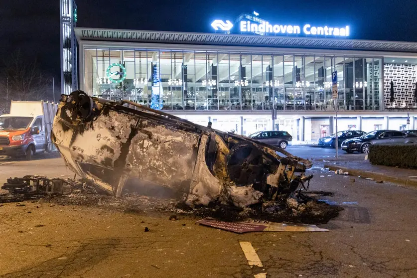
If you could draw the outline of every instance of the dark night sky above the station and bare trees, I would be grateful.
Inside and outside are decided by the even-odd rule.
[[[416,0],[78,0],[79,27],[212,32],[242,12],[278,24],[349,25],[350,38],[417,41]],[[59,0],[1,0],[0,61],[20,49],[60,77]]]

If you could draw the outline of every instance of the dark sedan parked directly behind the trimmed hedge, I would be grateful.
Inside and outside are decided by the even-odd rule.
[[[417,137],[400,131],[373,131],[364,136],[347,139],[342,142],[341,148],[346,152],[369,152],[371,144],[416,144]]]

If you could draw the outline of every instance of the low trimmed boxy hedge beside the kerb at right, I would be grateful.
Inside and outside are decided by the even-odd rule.
[[[376,165],[417,169],[417,145],[370,145],[368,158]]]

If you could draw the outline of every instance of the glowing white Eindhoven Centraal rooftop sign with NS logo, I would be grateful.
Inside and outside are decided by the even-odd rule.
[[[258,15],[254,11],[255,15]],[[244,14],[241,20],[236,22],[241,33],[255,33],[255,34],[274,34],[274,35],[298,35],[305,36],[333,36],[333,37],[348,37],[350,35],[349,26],[315,26],[311,24],[287,25],[287,24],[273,24],[269,21],[263,20],[257,16]],[[250,19],[250,20],[249,20]],[[211,23],[215,30],[230,31],[234,24],[229,20],[223,21],[216,19]]]

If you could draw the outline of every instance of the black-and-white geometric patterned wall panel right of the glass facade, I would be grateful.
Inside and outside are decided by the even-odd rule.
[[[397,105],[414,105],[414,91],[417,81],[417,66],[405,64],[384,64],[384,103],[390,106],[390,82],[394,82],[394,100]]]

